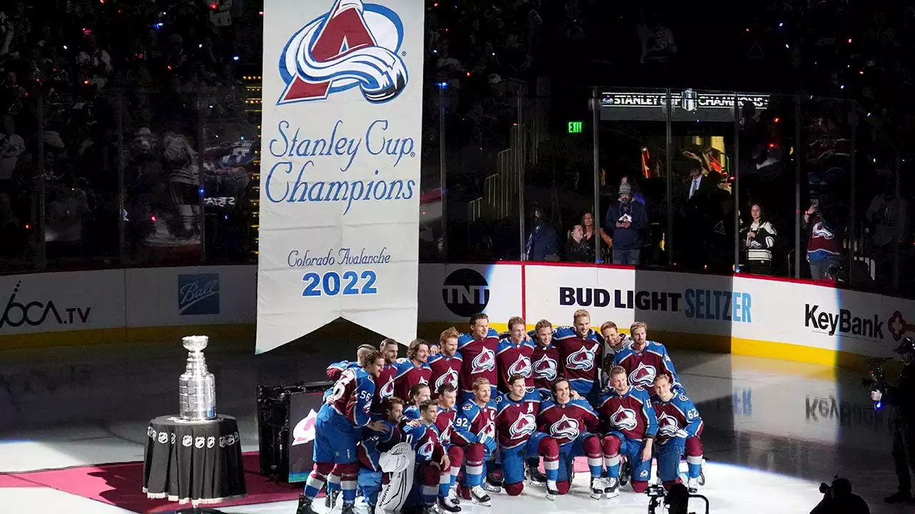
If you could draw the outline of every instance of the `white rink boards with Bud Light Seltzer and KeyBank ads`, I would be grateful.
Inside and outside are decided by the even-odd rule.
[[[882,294],[743,275],[581,264],[422,264],[420,337],[485,312],[595,327],[648,324],[672,348],[851,365],[885,357],[915,324],[915,305]],[[0,348],[156,340],[199,332],[253,335],[255,266],[145,268],[0,276]]]

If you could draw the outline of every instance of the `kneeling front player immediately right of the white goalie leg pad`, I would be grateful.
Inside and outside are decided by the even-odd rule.
[[[445,447],[438,440],[438,402],[426,400],[420,402],[418,407],[420,423],[411,423],[404,427],[404,440],[416,451],[416,487],[423,514],[431,514],[436,499],[439,500],[439,507],[444,508],[447,505],[439,498],[439,486],[446,478],[451,477],[451,461]],[[460,466],[460,463],[457,465]],[[460,511],[458,506],[449,507],[448,512]]]

